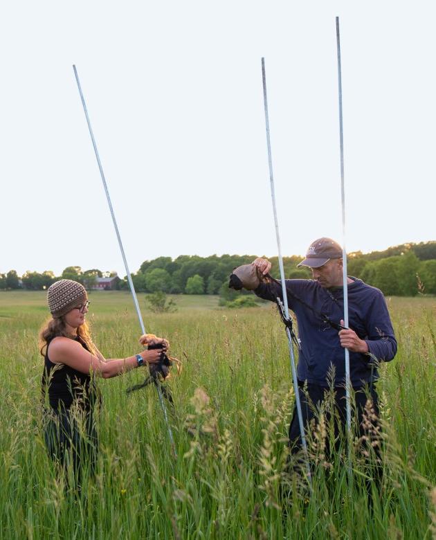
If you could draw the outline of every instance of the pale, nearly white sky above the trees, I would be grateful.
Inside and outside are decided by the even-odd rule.
[[[413,6],[411,8],[411,6]],[[415,1],[19,1],[0,8],[0,272],[436,240],[436,10]]]

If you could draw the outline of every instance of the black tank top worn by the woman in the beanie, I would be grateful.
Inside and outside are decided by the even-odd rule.
[[[87,344],[80,336],[77,336],[74,341],[78,341],[84,349],[89,351]],[[48,385],[48,402],[55,411],[69,409],[73,402],[82,411],[91,411],[99,400],[94,377],[75,370],[70,366],[66,366],[64,363],[53,363],[48,358],[49,346],[50,343],[48,343],[46,354],[44,355],[44,373],[42,375],[43,402]]]

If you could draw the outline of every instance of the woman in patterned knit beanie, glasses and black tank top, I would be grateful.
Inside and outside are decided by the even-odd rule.
[[[98,439],[93,411],[100,403],[96,377],[109,379],[126,371],[156,363],[168,342],[152,334],[140,338],[143,345],[161,344],[161,349],[143,350],[124,359],[106,360],[91,340],[85,321],[89,300],[83,285],[60,280],[48,288],[52,318],[41,332],[44,356],[43,401],[48,391],[45,440],[53,460],[67,467],[72,460],[75,482],[85,463],[91,474],[96,465]]]

